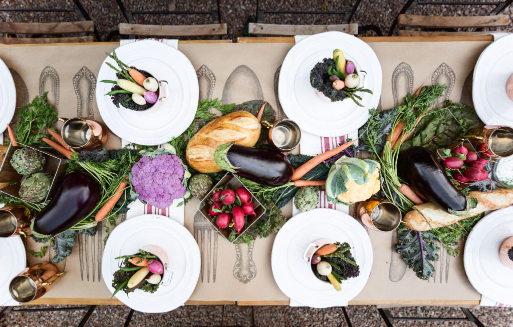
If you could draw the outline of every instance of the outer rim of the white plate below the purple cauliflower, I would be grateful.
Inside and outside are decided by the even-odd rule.
[[[184,244],[184,247],[188,246],[188,249],[190,249],[193,255],[193,257],[190,258],[189,261],[193,264],[192,274],[189,279],[189,283],[186,285],[185,290],[182,293],[180,293],[179,297],[174,297],[171,300],[166,300],[164,297],[167,294],[174,296],[172,292],[167,293],[164,296],[161,296],[161,305],[155,305],[154,303],[139,303],[127,297],[127,295],[124,292],[118,292],[114,296],[130,308],[137,311],[146,313],[169,312],[183,305],[190,298],[190,296],[194,292],[194,289],[196,288],[196,284],[198,283],[201,270],[201,253],[198,243],[196,243],[196,240],[189,232],[189,230],[185,228],[185,226],[173,220],[172,218],[155,214],[143,214],[127,219],[120,223],[119,226],[116,226],[116,228],[114,228],[109,238],[107,239],[107,243],[105,244],[102,258],[102,277],[109,291],[113,293],[114,288],[112,288],[112,274],[110,265],[112,263],[117,264],[117,260],[114,260],[114,257],[112,256],[112,251],[114,247],[113,242],[115,241],[115,238],[118,235],[123,236],[123,233],[125,233],[133,226],[138,226],[141,223],[144,224],[144,222],[147,221],[159,221],[159,223],[162,223],[163,228],[168,229],[169,233],[178,233],[181,234],[182,237],[187,239],[188,243]],[[133,232],[136,233],[137,230],[135,229]],[[189,264],[189,262],[187,264]]]

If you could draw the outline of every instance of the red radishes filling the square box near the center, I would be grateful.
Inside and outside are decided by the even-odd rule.
[[[235,190],[228,187],[215,189],[208,214],[220,229],[229,228],[234,235],[240,234],[246,226],[247,216],[256,215],[251,198],[244,187]]]

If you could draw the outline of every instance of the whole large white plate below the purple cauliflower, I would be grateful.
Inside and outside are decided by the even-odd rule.
[[[114,293],[112,276],[118,270],[115,257],[137,253],[146,246],[163,249],[173,271],[171,284],[160,285],[155,293],[135,290],[117,292],[115,297],[130,308],[147,313],[168,312],[189,299],[200,277],[200,248],[180,223],[160,215],[141,215],[125,220],[110,234],[102,259],[102,276]]]

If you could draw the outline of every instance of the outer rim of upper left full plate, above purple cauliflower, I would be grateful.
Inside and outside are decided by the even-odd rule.
[[[200,97],[200,87],[198,83],[198,77],[196,76],[196,71],[194,67],[192,66],[192,63],[190,62],[189,58],[181,52],[180,50],[177,50],[169,45],[166,45],[162,42],[156,41],[156,40],[141,40],[138,42],[131,42],[128,44],[125,44],[123,46],[120,46],[114,50],[116,50],[116,54],[120,56],[120,59],[123,60],[123,52],[124,51],[130,51],[132,48],[140,49],[141,47],[147,47],[151,49],[151,47],[159,50],[158,52],[165,52],[169,56],[166,58],[160,58],[159,56],[155,56],[153,51],[148,51],[149,55],[148,57],[153,57],[155,59],[161,60],[162,62],[166,62],[169,67],[173,67],[172,65],[176,62],[179,62],[181,65],[182,70],[187,71],[187,77],[184,78],[184,76],[181,76],[180,80],[182,83],[182,87],[184,89],[187,89],[187,92],[190,92],[190,99],[184,99],[184,102],[189,101],[190,103],[188,105],[183,105],[182,108],[187,108],[186,110],[186,118],[181,121],[181,124],[179,125],[180,128],[175,128],[174,130],[169,130],[165,134],[158,134],[155,133],[151,137],[147,136],[141,136],[137,135],[130,131],[130,127],[128,124],[123,124],[123,121],[120,124],[120,121],[117,121],[115,117],[111,116],[110,108],[106,107],[105,101],[106,97],[100,90],[102,90],[103,83],[101,80],[106,79],[106,75],[110,72],[111,68],[109,68],[106,65],[106,62],[110,60],[109,57],[106,57],[105,60],[102,62],[102,65],[100,66],[100,71],[98,71],[98,78],[96,81],[96,105],[98,107],[98,111],[100,112],[100,115],[102,116],[102,119],[104,120],[107,127],[117,136],[133,142],[135,144],[141,144],[141,145],[148,145],[148,146],[155,146],[164,144],[165,142],[170,141],[173,137],[181,135],[185,130],[189,127],[191,122],[194,120],[195,113],[198,109],[198,101]],[[121,50],[121,51],[120,51]],[[155,51],[157,52],[157,51]],[[187,84],[188,83],[188,84]],[[171,103],[173,99],[167,99],[165,104]],[[185,110],[185,109],[184,109]],[[141,114],[144,114],[144,111],[141,112]]]

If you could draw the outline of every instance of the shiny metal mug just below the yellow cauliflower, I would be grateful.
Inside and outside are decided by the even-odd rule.
[[[360,202],[357,214],[366,227],[378,232],[396,230],[402,219],[399,207],[386,199],[370,198]]]

